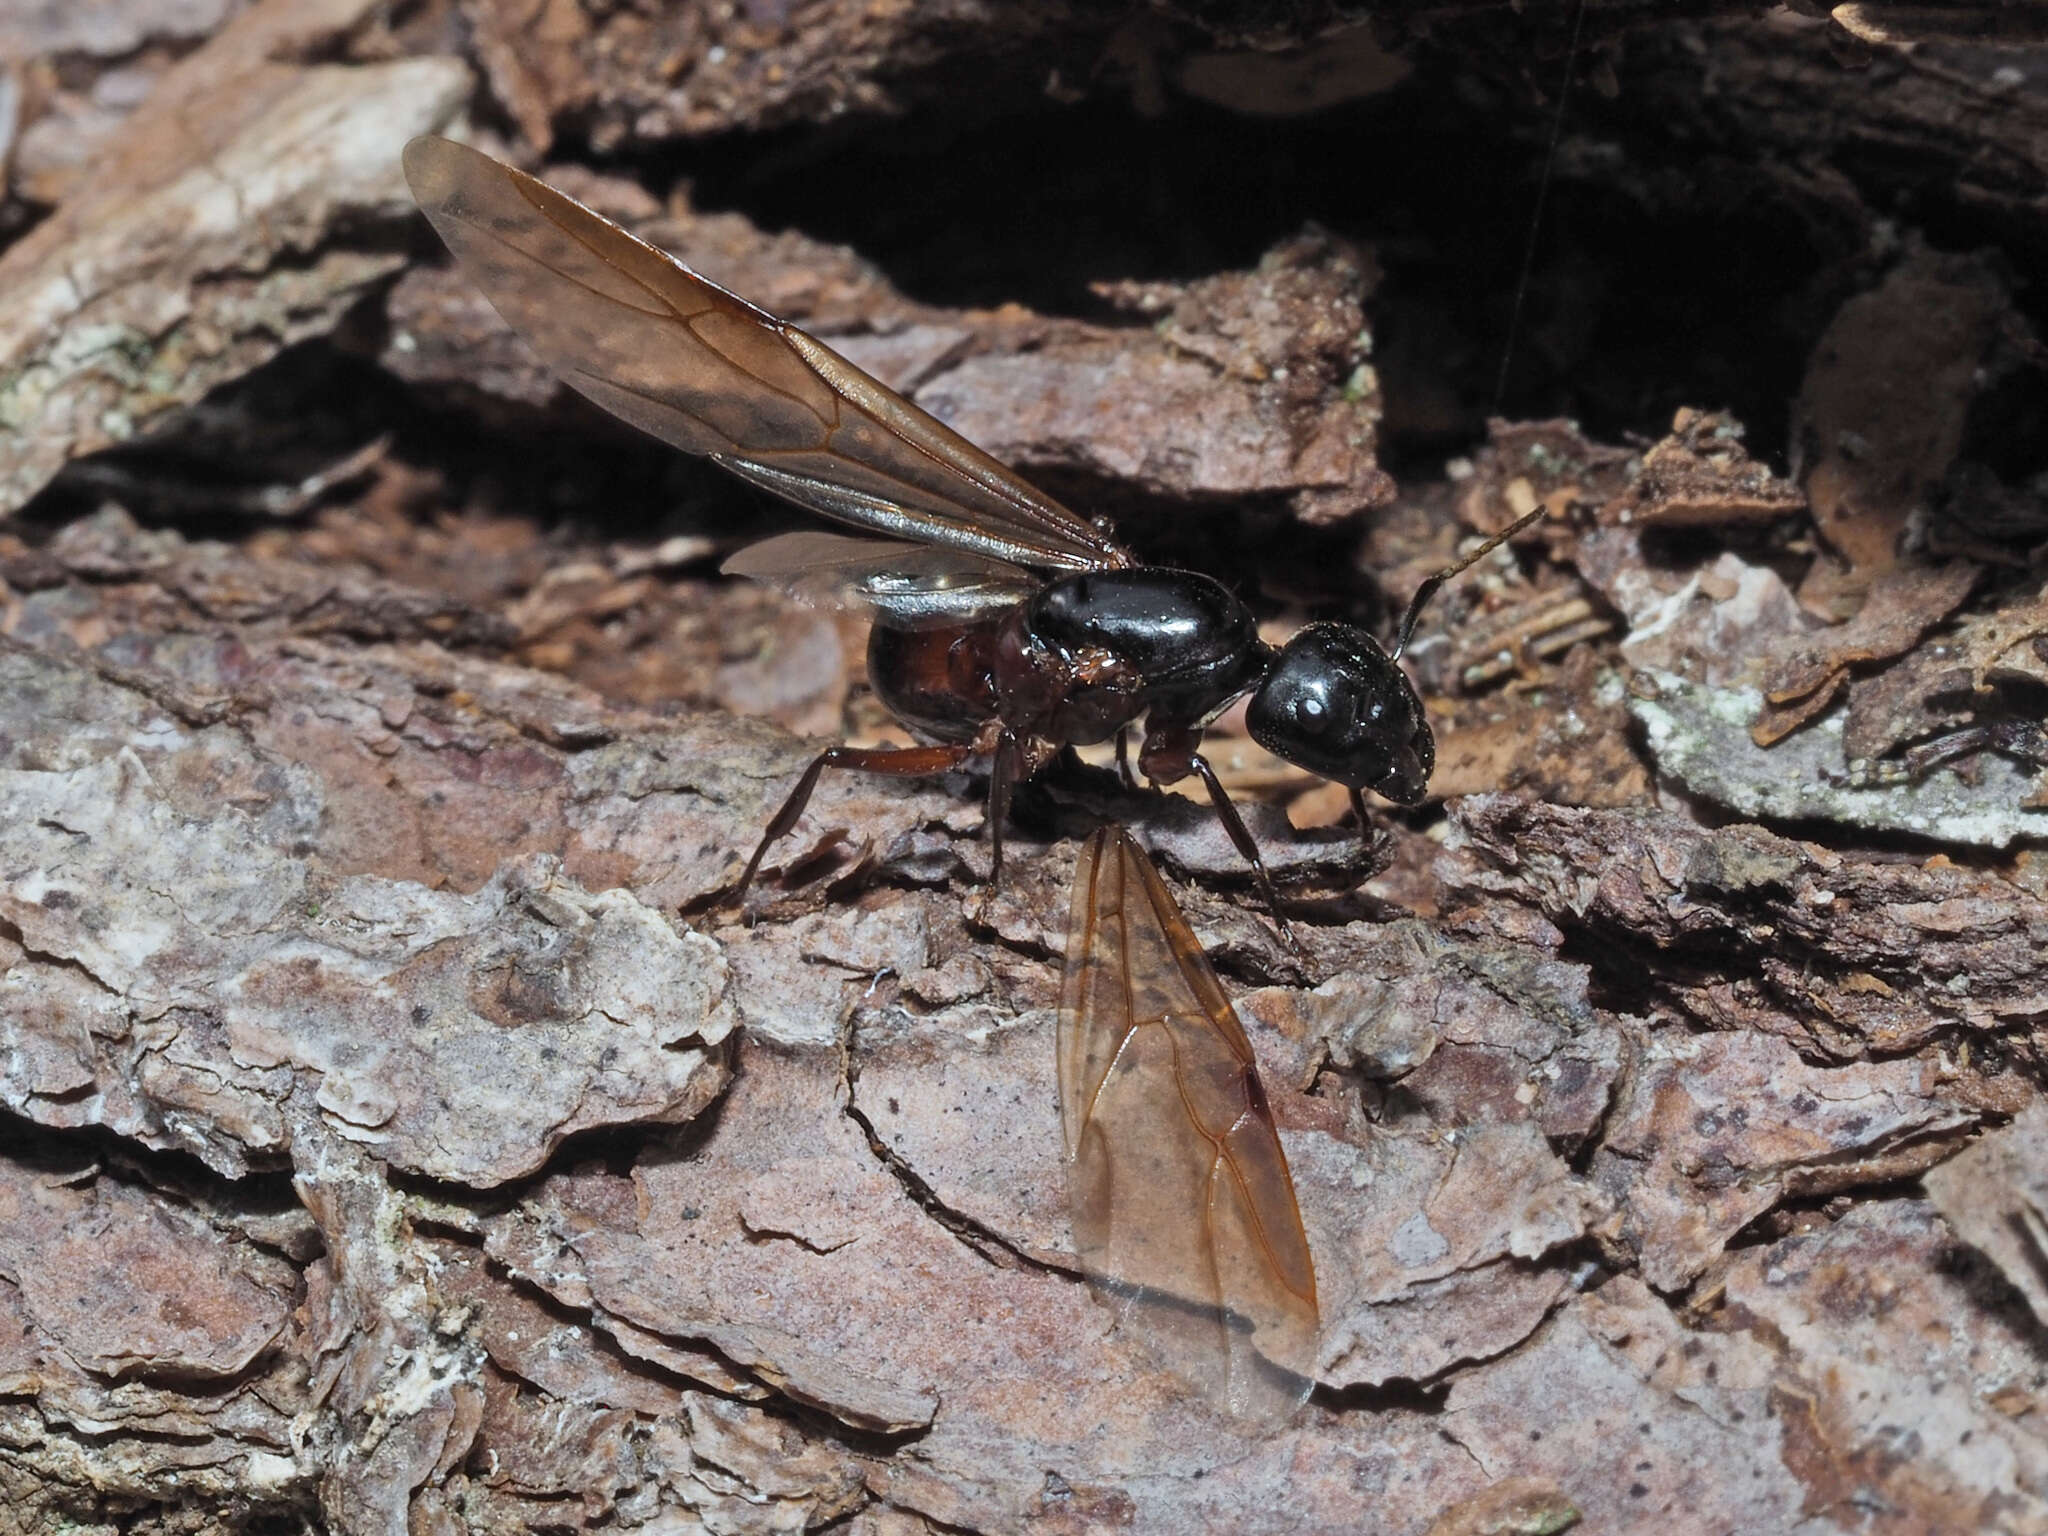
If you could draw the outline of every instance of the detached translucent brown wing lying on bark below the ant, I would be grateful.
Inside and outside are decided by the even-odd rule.
[[[1098,1292],[1231,1413],[1315,1374],[1315,1264],[1237,1012],[1122,827],[1073,877],[1059,999],[1073,1237]]]

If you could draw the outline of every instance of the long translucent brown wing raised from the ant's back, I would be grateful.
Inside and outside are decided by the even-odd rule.
[[[1130,563],[829,346],[532,176],[422,137],[406,145],[406,180],[506,324],[643,432],[891,539],[1034,569]]]

